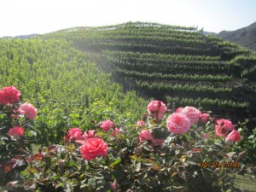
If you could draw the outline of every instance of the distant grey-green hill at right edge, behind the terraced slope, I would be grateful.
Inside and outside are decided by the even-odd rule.
[[[256,22],[236,31],[218,32],[217,36],[256,51]]]

